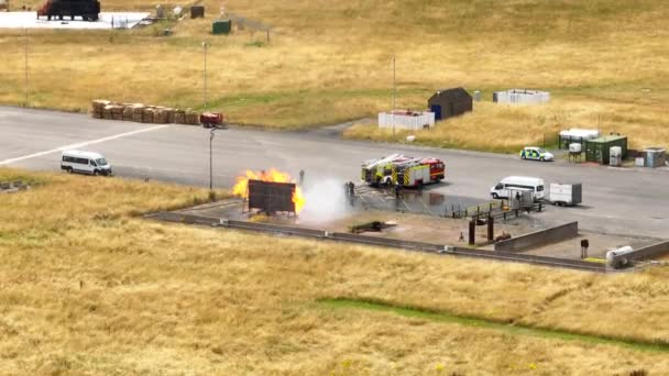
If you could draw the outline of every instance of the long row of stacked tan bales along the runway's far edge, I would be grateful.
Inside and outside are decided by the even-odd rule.
[[[118,103],[103,99],[92,101],[90,114],[95,119],[134,121],[136,123],[200,124],[199,112],[191,109],[179,110],[142,103]]]

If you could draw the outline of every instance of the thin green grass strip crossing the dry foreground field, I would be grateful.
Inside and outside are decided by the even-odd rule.
[[[669,343],[667,342],[651,342],[626,338],[578,333],[567,330],[538,328],[518,323],[511,324],[503,321],[495,321],[491,319],[481,319],[474,317],[463,317],[449,312],[435,311],[419,307],[397,306],[384,301],[351,298],[331,298],[320,299],[318,300],[318,305],[321,307],[336,309],[363,309],[368,311],[390,312],[406,318],[423,319],[436,322],[448,322],[463,327],[492,329],[513,335],[529,335],[552,340],[578,341],[591,344],[614,345],[636,351],[669,353]]]

